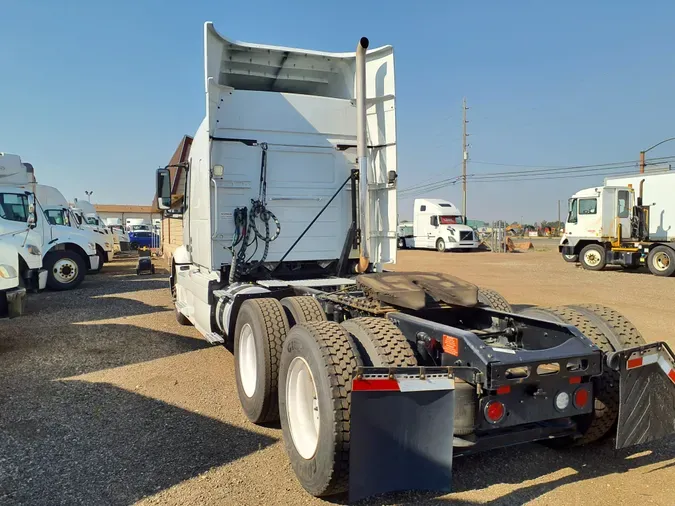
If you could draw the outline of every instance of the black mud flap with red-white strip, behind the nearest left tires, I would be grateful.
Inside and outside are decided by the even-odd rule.
[[[450,368],[359,368],[352,384],[349,501],[449,492],[455,382]]]

